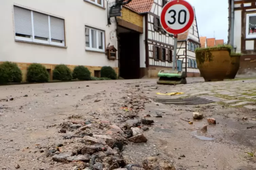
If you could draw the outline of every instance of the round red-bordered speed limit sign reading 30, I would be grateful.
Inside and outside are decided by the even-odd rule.
[[[170,34],[186,32],[194,22],[194,9],[184,0],[172,0],[162,9],[160,23]]]

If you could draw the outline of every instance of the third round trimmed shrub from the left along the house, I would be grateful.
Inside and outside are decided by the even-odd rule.
[[[56,65],[53,70],[53,80],[72,80],[72,71],[65,64]]]

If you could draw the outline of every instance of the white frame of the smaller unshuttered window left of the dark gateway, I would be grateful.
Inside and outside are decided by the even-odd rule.
[[[85,26],[85,32],[86,32],[86,28],[89,29],[89,46],[90,47],[87,47],[86,44],[85,44],[85,49],[86,50],[91,50],[91,51],[105,52],[105,31],[97,29],[97,28]],[[96,30],[96,47],[97,48],[92,48],[91,30]],[[99,32],[102,33],[102,49],[99,48]],[[86,41],[86,39],[85,39],[85,41]]]

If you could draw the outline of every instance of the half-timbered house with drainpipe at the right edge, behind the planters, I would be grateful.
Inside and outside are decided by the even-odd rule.
[[[256,72],[256,1],[234,1],[234,31],[231,29],[232,0],[229,3],[228,43],[233,44],[234,51],[242,53],[238,73]],[[233,33],[233,36],[231,35]],[[233,43],[232,41],[233,38]]]

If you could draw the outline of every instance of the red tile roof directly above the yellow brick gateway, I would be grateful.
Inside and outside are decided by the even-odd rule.
[[[127,8],[135,10],[138,13],[150,12],[154,0],[132,0],[130,3],[124,5]]]

